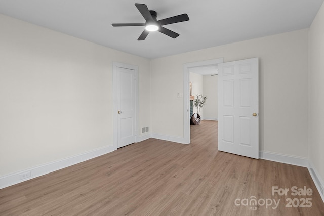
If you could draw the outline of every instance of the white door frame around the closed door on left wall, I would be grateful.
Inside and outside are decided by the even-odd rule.
[[[113,146],[114,149],[118,148],[118,110],[117,110],[117,68],[126,68],[134,70],[135,73],[135,142],[138,142],[139,136],[139,88],[138,88],[138,66],[130,65],[121,62],[112,62],[112,85],[113,85],[113,108],[112,108],[112,121],[113,121]]]

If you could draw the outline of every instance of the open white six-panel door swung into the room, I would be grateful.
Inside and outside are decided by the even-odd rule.
[[[218,150],[259,158],[259,59],[218,64]]]

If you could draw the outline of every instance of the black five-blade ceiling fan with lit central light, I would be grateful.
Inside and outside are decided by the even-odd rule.
[[[177,36],[179,36],[179,34],[163,27],[163,25],[168,25],[168,24],[177,23],[177,22],[184,22],[184,21],[189,20],[189,17],[187,14],[181,14],[181,15],[169,17],[169,18],[162,19],[162,20],[157,20],[156,12],[148,10],[146,5],[136,3],[135,6],[140,11],[140,13],[144,17],[144,19],[146,20],[145,23],[113,23],[111,25],[114,27],[145,26],[144,31],[142,32],[142,34],[139,36],[139,38],[137,40],[145,40],[145,38],[147,37],[147,35],[150,31],[159,31],[161,33],[164,33],[164,34],[172,37],[172,38],[176,38]]]

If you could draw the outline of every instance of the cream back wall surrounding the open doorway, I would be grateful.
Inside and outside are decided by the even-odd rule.
[[[184,63],[259,57],[260,150],[307,157],[307,35],[308,29],[304,29],[153,59],[153,133],[183,137],[183,100],[176,93],[183,92]]]

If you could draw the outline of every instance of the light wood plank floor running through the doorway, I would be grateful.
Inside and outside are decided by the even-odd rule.
[[[307,168],[218,152],[217,121],[191,136],[190,145],[148,139],[2,189],[0,215],[324,215]],[[272,196],[272,186],[313,193]],[[257,206],[238,206],[252,196]],[[311,207],[286,207],[287,198]]]

